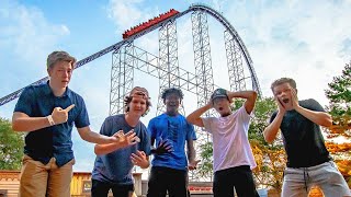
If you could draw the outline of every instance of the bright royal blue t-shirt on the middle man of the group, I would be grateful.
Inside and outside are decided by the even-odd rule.
[[[182,115],[169,116],[161,114],[149,121],[149,136],[156,139],[156,147],[161,140],[168,140],[173,146],[173,152],[155,154],[152,166],[165,166],[176,170],[186,170],[185,141],[196,140],[194,126]]]

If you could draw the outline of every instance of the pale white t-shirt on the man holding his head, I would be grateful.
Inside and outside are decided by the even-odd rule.
[[[214,172],[240,165],[257,166],[248,140],[250,115],[244,106],[229,116],[202,120],[206,131],[212,134]]]

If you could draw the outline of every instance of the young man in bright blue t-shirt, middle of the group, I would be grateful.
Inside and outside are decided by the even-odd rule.
[[[184,116],[179,114],[179,106],[183,99],[181,90],[166,89],[161,95],[166,105],[166,113],[149,121],[148,132],[151,144],[155,141],[157,149],[152,150],[151,173],[148,182],[148,197],[186,197],[188,169],[194,170],[195,161],[193,140],[196,140],[194,127]],[[185,157],[185,142],[188,160]],[[189,161],[189,164],[188,164]]]

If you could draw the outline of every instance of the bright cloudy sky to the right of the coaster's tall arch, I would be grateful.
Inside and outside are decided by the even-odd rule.
[[[350,2],[252,1],[233,3],[226,18],[244,37],[263,94],[280,77],[297,81],[299,97],[324,104],[324,90],[341,70],[351,36]]]

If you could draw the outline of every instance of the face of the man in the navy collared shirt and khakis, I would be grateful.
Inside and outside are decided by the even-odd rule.
[[[58,61],[47,71],[53,88],[66,89],[72,76],[73,68],[69,61]]]

